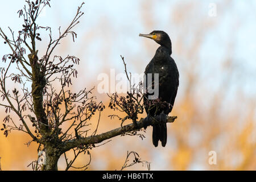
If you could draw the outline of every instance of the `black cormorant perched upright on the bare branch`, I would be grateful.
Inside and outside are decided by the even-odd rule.
[[[179,71],[174,59],[171,57],[172,44],[166,32],[152,31],[150,34],[139,34],[139,36],[150,38],[160,44],[155,56],[148,63],[144,72],[146,74],[144,107],[147,112],[147,118],[144,119],[144,122],[148,122],[152,117],[157,118],[158,124],[153,126],[152,141],[154,146],[157,147],[158,141],[160,140],[164,147],[167,142],[166,119],[174,106],[177,88],[179,86]],[[148,73],[152,73],[152,79],[150,80],[147,78]],[[154,73],[158,73],[158,82],[154,80]],[[154,93],[149,92],[151,85],[153,90],[158,86],[158,97],[152,100],[150,100],[150,96]]]

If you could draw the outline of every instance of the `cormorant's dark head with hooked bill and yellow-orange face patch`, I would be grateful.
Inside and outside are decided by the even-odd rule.
[[[170,54],[172,52],[172,43],[171,39],[168,34],[164,31],[154,30],[150,34],[139,34],[139,36],[144,36],[145,38],[150,38],[155,40],[156,43],[160,44],[161,46],[166,47]]]

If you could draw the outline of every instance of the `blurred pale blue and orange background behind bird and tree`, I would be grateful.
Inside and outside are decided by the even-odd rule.
[[[51,8],[40,16],[41,26],[58,28],[72,21],[82,1],[51,1]],[[22,27],[16,12],[24,1],[5,1],[0,7],[0,26],[15,32]],[[137,151],[152,170],[255,170],[256,169],[256,1],[85,1],[80,24],[75,27],[77,40],[61,42],[56,55],[80,57],[79,77],[72,90],[96,86],[100,73],[124,73],[120,55],[125,57],[131,73],[143,73],[159,47],[154,41],[139,37],[153,30],[163,30],[172,40],[172,57],[180,72],[180,86],[168,124],[166,147],[155,148],[151,141],[152,127],[143,140],[115,137],[104,146],[92,150],[90,170],[119,170],[127,151]],[[63,30],[63,29],[62,29]],[[41,33],[40,33],[41,34]],[[42,32],[38,42],[39,56],[46,51],[48,34]],[[9,53],[0,44],[0,57]],[[1,62],[1,67],[2,67]],[[13,70],[14,71],[14,70]],[[14,71],[15,72],[15,71]],[[11,85],[10,85],[11,89]],[[106,94],[97,93],[98,101],[108,105]],[[98,133],[120,126],[108,118],[106,109]],[[0,121],[5,117],[0,107]],[[141,116],[144,117],[144,114]],[[92,127],[97,124],[97,115]],[[18,119],[16,119],[18,123]],[[127,122],[128,123],[128,122]],[[0,135],[0,156],[3,170],[30,170],[36,160],[38,146],[24,144],[30,138],[19,132],[9,137]],[[208,163],[209,152],[217,154],[217,164]],[[72,154],[69,154],[72,156]],[[81,155],[77,166],[88,162]],[[65,169],[63,157],[59,169]],[[146,170],[140,164],[129,168]]]

